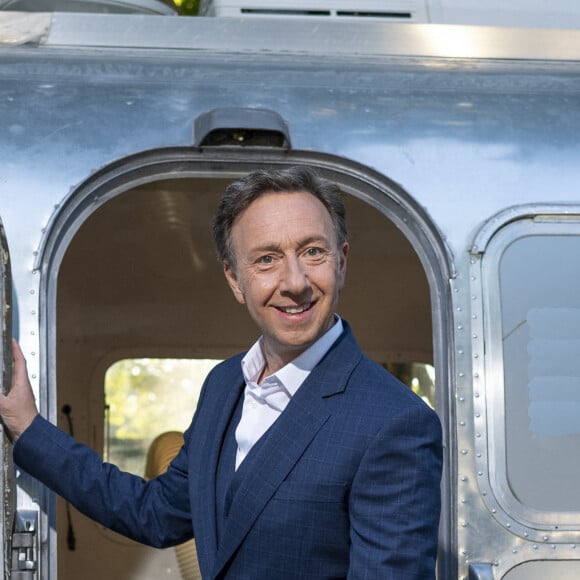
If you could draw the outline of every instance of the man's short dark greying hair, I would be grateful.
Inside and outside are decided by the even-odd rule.
[[[298,192],[310,193],[324,205],[332,219],[340,248],[346,242],[346,211],[341,199],[342,192],[336,184],[320,178],[309,167],[259,169],[230,184],[222,195],[213,220],[213,237],[219,259],[235,267],[232,227],[252,202],[264,194]]]

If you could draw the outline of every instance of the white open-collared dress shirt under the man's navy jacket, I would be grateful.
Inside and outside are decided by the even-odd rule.
[[[342,334],[342,320],[336,316],[336,323],[312,346],[276,373],[265,377],[258,384],[266,365],[260,337],[242,359],[242,372],[246,381],[242,417],[236,428],[238,451],[236,469],[240,466],[253,445],[280,416],[300,385],[312,369],[328,352]]]

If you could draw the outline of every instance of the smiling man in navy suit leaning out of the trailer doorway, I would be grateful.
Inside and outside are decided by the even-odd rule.
[[[195,536],[204,578],[433,578],[440,425],[336,314],[340,191],[303,167],[254,172],[226,190],[214,238],[262,336],[210,373],[168,471],[121,473],[42,419],[15,344],[0,413],[16,463],[133,539]]]

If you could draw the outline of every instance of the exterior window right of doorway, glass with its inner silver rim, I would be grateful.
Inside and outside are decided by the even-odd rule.
[[[511,513],[578,526],[580,225],[504,230],[484,258],[491,479]]]

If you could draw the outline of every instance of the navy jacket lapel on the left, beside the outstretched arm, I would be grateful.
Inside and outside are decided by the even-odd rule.
[[[197,458],[190,463],[194,470],[191,479],[199,482],[192,494],[192,517],[204,577],[213,568],[217,553],[216,474],[223,439],[244,387],[240,360],[241,356],[231,359],[222,372],[212,376],[207,385],[207,401],[202,402],[201,421],[195,429],[200,439],[191,442],[191,449],[195,450],[192,455]]]

